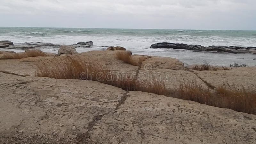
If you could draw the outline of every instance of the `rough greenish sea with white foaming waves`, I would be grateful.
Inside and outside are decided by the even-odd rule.
[[[177,49],[151,49],[159,42],[196,44],[202,46],[256,47],[256,31],[245,30],[191,30],[191,29],[116,29],[116,28],[30,28],[0,27],[0,40],[14,44],[45,42],[52,44],[76,44],[93,41],[90,48],[77,48],[77,52],[105,50],[102,47],[122,46],[133,54],[177,58],[185,65],[202,64],[228,66],[233,63],[255,66],[255,54],[193,52]],[[0,48],[0,50],[6,50]],[[12,50],[21,52],[22,50]],[[57,48],[43,49],[57,53]]]

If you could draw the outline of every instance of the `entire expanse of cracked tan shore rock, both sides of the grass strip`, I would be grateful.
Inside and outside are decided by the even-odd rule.
[[[138,63],[131,65],[117,58],[127,51],[77,53],[72,46],[62,46],[60,56],[0,60],[0,143],[255,142],[253,114],[96,81],[38,77],[36,72],[42,62],[61,66],[71,57],[142,79],[161,74],[167,88],[195,81],[203,88],[228,83],[248,89],[256,85],[256,67],[193,71],[174,58],[142,55],[131,55]]]

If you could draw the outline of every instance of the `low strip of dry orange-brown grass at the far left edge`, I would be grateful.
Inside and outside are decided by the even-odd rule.
[[[39,56],[45,56],[45,53],[42,51],[26,51],[26,52],[18,52],[18,53],[4,53],[3,56],[1,56],[2,60],[7,59],[23,59],[28,57],[39,57]]]

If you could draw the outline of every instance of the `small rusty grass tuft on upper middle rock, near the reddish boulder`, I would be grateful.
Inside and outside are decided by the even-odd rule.
[[[141,66],[142,62],[147,59],[145,56],[141,56],[138,60],[133,60],[132,54],[128,52],[117,52],[116,55],[118,60],[122,60],[125,63],[139,67]]]

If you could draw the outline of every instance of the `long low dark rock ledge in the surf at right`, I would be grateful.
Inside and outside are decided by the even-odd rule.
[[[201,46],[193,44],[174,44],[174,43],[157,43],[152,44],[150,48],[166,49],[183,49],[190,51],[204,52],[230,52],[230,53],[253,53],[256,54],[256,47],[239,47],[239,46]]]

